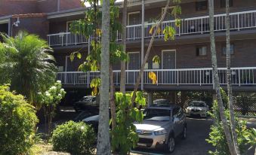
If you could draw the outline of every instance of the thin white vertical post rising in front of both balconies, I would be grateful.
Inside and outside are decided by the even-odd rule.
[[[141,62],[140,64],[142,64],[143,60],[144,60],[144,0],[141,1]],[[140,83],[140,87],[141,90],[143,90],[143,76],[144,74],[141,74],[141,83]]]

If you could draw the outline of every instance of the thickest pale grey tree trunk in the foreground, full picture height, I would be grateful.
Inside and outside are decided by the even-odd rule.
[[[100,118],[97,155],[110,154],[109,141],[109,0],[102,5],[102,48],[100,60]]]

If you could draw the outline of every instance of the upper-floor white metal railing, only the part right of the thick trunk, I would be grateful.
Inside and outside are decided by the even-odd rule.
[[[226,30],[226,14],[217,14],[214,15],[214,31],[224,31]],[[150,38],[150,29],[153,26],[156,26],[156,23],[146,23],[144,26],[145,35],[144,38]],[[168,20],[162,22],[160,27],[161,32],[156,35],[156,38],[163,38],[163,29],[166,26],[172,26],[176,29],[176,35],[190,35],[190,34],[203,34],[209,32],[209,17],[192,17],[184,18],[180,20],[180,26],[175,26],[175,20]],[[243,11],[230,14],[230,30],[241,30],[241,29],[250,29],[256,28],[256,11]],[[141,24],[127,26],[127,39],[135,40],[141,38]],[[121,40],[121,38],[119,38]]]

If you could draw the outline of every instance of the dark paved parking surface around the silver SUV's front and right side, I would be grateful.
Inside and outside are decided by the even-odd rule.
[[[187,139],[177,139],[174,153],[171,155],[204,155],[208,154],[208,150],[214,150],[211,144],[205,141],[208,138],[212,120],[187,118]],[[133,155],[137,154],[168,154],[163,150],[146,150],[135,149],[132,151]]]

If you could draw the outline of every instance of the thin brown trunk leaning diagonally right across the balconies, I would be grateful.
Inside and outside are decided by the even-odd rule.
[[[142,65],[141,65],[141,67],[140,67],[140,72],[139,72],[139,75],[137,76],[136,84],[134,85],[134,93],[133,93],[133,96],[132,96],[132,98],[131,98],[131,103],[134,103],[134,101],[135,101],[135,97],[136,97],[136,93],[135,93],[135,92],[137,92],[137,89],[138,89],[139,84],[140,84],[141,75],[143,74],[143,71],[144,71],[144,68],[145,68],[145,64],[146,64],[146,62],[147,62],[147,59],[148,59],[149,56],[150,56],[150,50],[151,50],[151,47],[152,47],[153,42],[154,42],[154,40],[155,40],[155,36],[156,36],[156,33],[157,33],[157,29],[159,29],[159,26],[161,26],[162,21],[165,19],[165,15],[166,15],[166,13],[167,13],[167,10],[168,10],[168,7],[169,7],[169,5],[170,5],[170,2],[171,2],[171,0],[167,0],[166,5],[165,5],[164,13],[162,14],[162,17],[161,17],[159,23],[156,24],[156,29],[154,30],[154,33],[153,33],[153,35],[152,35],[152,37],[151,37],[151,39],[150,39],[150,44],[149,44],[149,46],[147,47],[147,53],[146,53],[146,55],[145,55],[145,57],[144,57],[144,59],[143,59]]]

